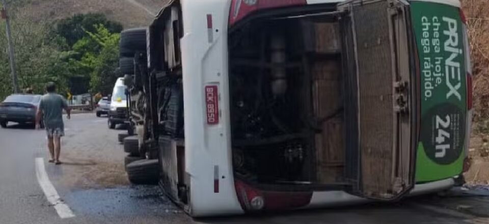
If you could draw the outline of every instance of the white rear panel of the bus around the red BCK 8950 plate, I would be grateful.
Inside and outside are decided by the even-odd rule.
[[[182,2],[185,172],[191,183],[189,213],[192,216],[242,213],[234,187],[231,154],[227,64],[231,2]],[[207,91],[218,101],[219,111],[211,111],[218,116],[217,120],[208,120]]]

